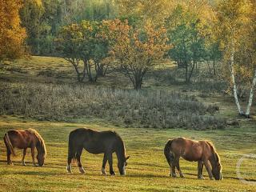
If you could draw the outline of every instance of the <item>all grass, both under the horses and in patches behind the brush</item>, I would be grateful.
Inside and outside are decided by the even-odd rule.
[[[49,72],[53,71],[54,74]],[[73,69],[62,59],[33,57],[0,67],[0,81],[9,83],[75,83]],[[42,71],[46,71],[42,72]],[[47,72],[48,71],[48,72]],[[38,75],[40,74],[40,75]],[[155,86],[152,79],[145,82],[146,89],[166,89],[167,85]],[[99,79],[96,86],[129,87],[125,78],[110,76]],[[89,85],[95,86],[95,85]],[[118,87],[117,86],[117,87]],[[183,90],[183,86],[170,86],[170,90]],[[224,130],[149,129],[114,126],[110,122],[88,119],[84,122],[45,122],[18,115],[0,115],[0,191],[256,191],[256,159],[246,158],[240,167],[242,176],[255,185],[239,181],[236,165],[243,154],[256,154],[255,117],[251,120],[239,118],[233,99],[221,94],[204,94],[191,91],[206,103],[220,106],[219,117],[238,120],[238,125]],[[255,108],[255,106],[253,106]],[[255,110],[253,110],[255,114]],[[116,130],[126,144],[130,155],[126,176],[118,175],[117,158],[114,155],[116,176],[102,176],[102,154],[86,151],[82,164],[86,174],[79,174],[73,164],[73,174],[66,173],[67,140],[71,130],[88,127],[95,130]],[[26,166],[22,166],[22,151],[13,157],[14,166],[6,165],[6,149],[3,134],[10,129],[38,130],[46,141],[47,157],[43,167],[34,167],[30,152],[26,154]],[[2,136],[1,136],[2,135]],[[182,178],[170,178],[169,166],[163,155],[167,139],[174,137],[208,139],[214,142],[222,158],[223,181],[210,181],[204,170],[205,180],[197,179],[197,162],[181,161],[185,174]],[[107,166],[108,170],[108,166]]]

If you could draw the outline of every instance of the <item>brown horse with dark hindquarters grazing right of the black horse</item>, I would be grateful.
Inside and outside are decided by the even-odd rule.
[[[175,167],[180,177],[184,178],[182,170],[179,166],[179,158],[182,157],[186,161],[198,162],[198,178],[202,177],[203,165],[210,179],[222,180],[222,165],[220,158],[214,148],[214,145],[208,141],[193,141],[187,138],[174,138],[166,143],[164,154],[170,166],[170,176],[176,177]],[[212,170],[210,170],[210,164]],[[214,177],[214,178],[213,178]]]

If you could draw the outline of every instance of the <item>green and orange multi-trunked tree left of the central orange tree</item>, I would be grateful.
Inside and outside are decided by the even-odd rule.
[[[90,82],[96,82],[98,76],[106,73],[103,60],[108,56],[109,43],[101,22],[83,20],[80,24],[65,26],[57,42],[62,57],[74,66],[78,82],[82,82],[86,74]]]

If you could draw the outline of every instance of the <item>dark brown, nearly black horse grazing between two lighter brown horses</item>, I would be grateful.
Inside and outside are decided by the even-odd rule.
[[[115,152],[118,157],[118,170],[121,175],[126,174],[127,160],[126,148],[122,142],[122,138],[114,131],[95,131],[86,128],[73,130],[70,132],[68,158],[66,170],[71,171],[71,160],[74,159],[78,163],[81,174],[85,173],[80,162],[82,150],[85,149],[91,154],[104,154],[102,162],[102,174],[106,175],[106,161],[110,165],[110,174],[114,175],[112,154]]]

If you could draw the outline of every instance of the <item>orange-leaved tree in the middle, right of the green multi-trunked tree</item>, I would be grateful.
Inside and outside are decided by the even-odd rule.
[[[142,88],[145,74],[159,65],[169,46],[166,30],[152,26],[134,29],[128,21],[105,21],[109,29],[110,54],[116,68],[130,78],[135,90]]]

